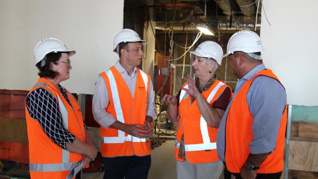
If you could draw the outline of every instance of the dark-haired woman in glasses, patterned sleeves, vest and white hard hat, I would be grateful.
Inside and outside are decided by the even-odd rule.
[[[34,48],[40,78],[25,99],[31,179],[75,178],[97,155],[76,99],[60,85],[69,78],[73,54],[54,38]]]

